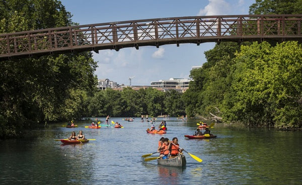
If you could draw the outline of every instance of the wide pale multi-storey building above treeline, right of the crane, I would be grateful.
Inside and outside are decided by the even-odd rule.
[[[173,88],[176,90],[176,89],[188,88],[190,81],[192,81],[192,79],[170,78],[169,80],[160,80],[157,82],[151,82],[151,86],[161,87],[161,88]]]

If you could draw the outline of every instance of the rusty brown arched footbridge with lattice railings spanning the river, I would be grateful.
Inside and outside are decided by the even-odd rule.
[[[0,60],[140,46],[206,42],[301,42],[302,15],[160,18],[0,35]]]

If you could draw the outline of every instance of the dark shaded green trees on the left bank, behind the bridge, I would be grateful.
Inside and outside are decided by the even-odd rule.
[[[56,0],[1,1],[0,10],[0,33],[72,25],[70,13]],[[87,114],[81,105],[95,89],[93,73],[97,67],[91,57],[91,53],[84,52],[3,61],[1,137],[22,135],[24,129],[36,127],[37,123],[44,125]]]

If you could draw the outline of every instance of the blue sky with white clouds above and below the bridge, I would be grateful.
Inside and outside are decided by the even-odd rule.
[[[80,25],[119,21],[188,17],[247,15],[255,0],[61,0],[72,21]],[[118,84],[150,85],[150,82],[170,78],[189,78],[193,66],[206,62],[204,52],[215,43],[145,46],[93,53],[98,62],[98,79],[108,78]]]

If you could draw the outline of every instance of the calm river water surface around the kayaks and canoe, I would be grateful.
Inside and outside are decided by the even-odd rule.
[[[188,140],[184,135],[194,133],[197,120],[171,118],[164,135],[147,134],[151,124],[140,118],[111,120],[124,128],[89,129],[90,121],[83,121],[78,128],[57,124],[34,130],[38,137],[31,140],[1,142],[0,184],[302,184],[301,132],[216,124],[211,133],[217,138]],[[75,145],[54,140],[80,130],[96,140]],[[178,137],[181,147],[203,161],[184,153],[185,168],[142,162],[141,155],[155,152],[162,136]]]

